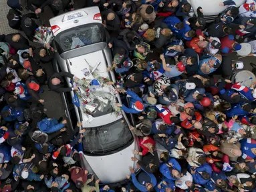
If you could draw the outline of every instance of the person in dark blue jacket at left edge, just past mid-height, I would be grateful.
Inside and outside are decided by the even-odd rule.
[[[5,121],[23,121],[23,110],[19,107],[11,107],[11,105],[5,105],[1,111],[1,117],[5,119]]]

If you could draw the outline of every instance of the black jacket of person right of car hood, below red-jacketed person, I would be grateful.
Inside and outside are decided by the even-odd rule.
[[[150,163],[156,165],[156,170],[160,166],[160,162],[156,151],[154,151],[153,153],[146,154],[142,158],[142,161],[138,161],[138,165],[140,165],[147,173],[153,173],[149,167]]]

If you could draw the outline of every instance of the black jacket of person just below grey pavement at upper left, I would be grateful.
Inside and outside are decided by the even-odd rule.
[[[16,35],[16,34],[19,34],[21,38],[19,39],[19,41],[13,42],[13,40],[11,39],[13,35]],[[16,51],[29,49],[29,41],[27,41],[27,39],[23,37],[23,35],[21,35],[20,33],[11,33],[11,34],[5,35],[5,41],[9,43],[9,45],[11,45],[11,47],[13,47],[13,49],[15,49]]]

